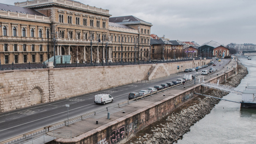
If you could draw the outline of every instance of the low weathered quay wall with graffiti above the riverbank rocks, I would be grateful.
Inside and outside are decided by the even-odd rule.
[[[230,76],[234,75],[235,69],[230,69],[225,73],[218,75],[208,82],[224,82]],[[77,137],[70,139],[57,139],[53,143],[57,144],[96,144],[96,143],[109,143],[115,144],[124,142],[134,136],[140,130],[146,128],[153,122],[160,120],[166,115],[170,114],[177,107],[195,98],[197,93],[204,93],[209,88],[203,87],[200,84],[188,88],[185,91],[179,92],[173,96],[169,96],[162,101],[155,102],[133,113],[127,114],[118,118],[108,124],[99,126],[97,129],[90,130]]]

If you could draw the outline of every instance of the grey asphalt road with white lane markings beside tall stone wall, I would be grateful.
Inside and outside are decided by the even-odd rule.
[[[218,62],[215,60],[219,69],[226,65],[229,60],[222,60]],[[221,66],[219,66],[221,64]],[[204,68],[209,69],[210,67]],[[201,72],[200,69],[198,72]],[[188,74],[194,74],[195,72],[189,72]],[[75,117],[88,111],[92,111],[103,107],[103,105],[95,105],[94,95],[99,93],[108,93],[113,96],[114,102],[119,103],[123,100],[128,100],[128,94],[133,91],[145,90],[148,87],[154,87],[162,83],[172,82],[178,78],[182,78],[184,75],[171,77],[164,80],[159,80],[152,83],[132,83],[124,86],[114,87],[107,90],[92,92],[90,94],[84,94],[75,96],[72,98],[62,99],[55,102],[44,103],[36,106],[27,107],[24,109],[18,109],[10,112],[0,114],[0,141],[9,139],[11,137],[18,136],[30,132],[35,129],[43,128],[45,126],[64,121],[67,119],[67,107],[69,107],[69,117]],[[109,105],[109,104],[106,104]]]

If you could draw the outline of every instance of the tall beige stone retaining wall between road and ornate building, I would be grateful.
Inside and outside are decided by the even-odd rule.
[[[163,77],[208,62],[0,71],[0,112]]]

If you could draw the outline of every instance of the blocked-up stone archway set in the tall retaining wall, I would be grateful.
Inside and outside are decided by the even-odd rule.
[[[44,88],[39,85],[35,84],[33,85],[29,90],[29,104],[35,105],[38,103],[44,103],[45,101],[45,92]]]

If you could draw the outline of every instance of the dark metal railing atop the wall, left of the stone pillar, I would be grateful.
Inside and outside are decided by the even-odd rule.
[[[8,70],[17,70],[17,69],[41,69],[41,68],[47,68],[48,64],[42,63],[42,64],[31,64],[30,62],[28,64],[12,64],[9,65],[1,65],[0,64],[0,71],[8,71]]]

